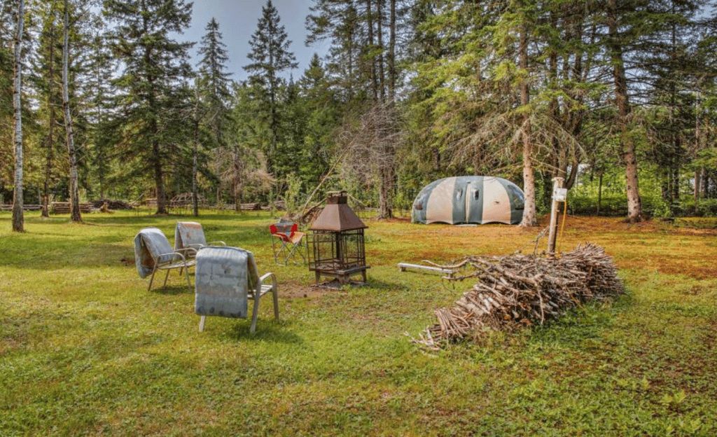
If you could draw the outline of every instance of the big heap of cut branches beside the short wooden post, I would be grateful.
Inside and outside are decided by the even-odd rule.
[[[437,350],[443,344],[480,337],[490,330],[515,331],[555,319],[574,306],[624,291],[617,268],[603,248],[579,245],[560,258],[536,255],[471,256],[452,266],[477,279],[452,309],[437,309],[438,323],[413,342]]]

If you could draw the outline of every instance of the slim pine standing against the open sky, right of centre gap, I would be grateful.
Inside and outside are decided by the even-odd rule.
[[[272,136],[267,156],[270,172],[274,170],[277,142],[280,141],[279,92],[283,82],[280,73],[298,66],[296,57],[289,51],[291,41],[284,26],[279,23],[279,13],[271,0],[267,0],[266,6],[262,7],[257,30],[249,42],[252,52],[247,57],[252,62],[244,66],[244,70],[250,73],[250,84],[263,91],[268,107],[267,118]]]

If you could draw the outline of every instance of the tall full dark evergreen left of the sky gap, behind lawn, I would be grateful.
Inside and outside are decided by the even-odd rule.
[[[118,88],[116,128],[135,171],[151,171],[157,213],[166,214],[166,163],[172,159],[174,88],[191,75],[186,62],[192,43],[178,42],[191,22],[191,3],[184,0],[105,0],[104,14],[115,22],[110,47],[124,65],[113,80]],[[129,163],[129,162],[128,162]]]

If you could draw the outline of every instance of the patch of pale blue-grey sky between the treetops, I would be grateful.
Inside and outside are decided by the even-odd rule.
[[[246,79],[247,73],[242,67],[249,64],[249,41],[257,30],[262,7],[266,4],[267,0],[194,0],[191,27],[177,38],[196,42],[191,49],[192,65],[196,67],[199,62],[196,54],[199,42],[206,33],[206,24],[214,17],[219,23],[219,32],[222,32],[222,42],[227,45],[227,70],[234,73],[232,80],[239,82]],[[272,0],[272,4],[279,13],[279,24],[284,26],[291,41],[289,50],[294,53],[299,63],[295,70],[285,72],[285,77],[289,77],[291,73],[298,79],[308,67],[314,52],[321,56],[328,50],[328,42],[318,42],[312,47],[306,47],[304,44],[305,19],[310,12],[309,7],[314,4],[313,0]]]

